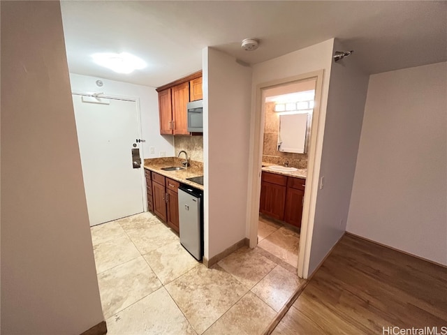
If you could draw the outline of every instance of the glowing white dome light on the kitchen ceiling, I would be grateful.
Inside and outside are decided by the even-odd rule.
[[[91,58],[96,64],[110,68],[117,73],[132,73],[134,70],[141,70],[147,66],[145,61],[128,52],[121,54],[101,52],[92,54]]]

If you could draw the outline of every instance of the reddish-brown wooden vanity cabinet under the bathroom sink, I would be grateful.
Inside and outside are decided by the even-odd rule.
[[[301,227],[305,179],[262,172],[259,211],[266,216]]]

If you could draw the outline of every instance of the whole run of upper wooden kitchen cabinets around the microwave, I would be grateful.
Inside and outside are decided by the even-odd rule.
[[[188,131],[186,105],[203,98],[202,71],[193,73],[163,87],[159,92],[161,135],[191,135]]]

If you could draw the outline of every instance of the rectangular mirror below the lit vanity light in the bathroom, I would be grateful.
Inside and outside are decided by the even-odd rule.
[[[312,113],[279,115],[278,151],[306,154]]]

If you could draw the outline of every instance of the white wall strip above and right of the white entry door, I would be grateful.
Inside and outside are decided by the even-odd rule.
[[[96,80],[103,81],[103,87],[96,86]],[[125,96],[138,98],[140,104],[141,134],[146,140],[142,144],[142,157],[160,157],[160,151],[166,151],[166,156],[174,156],[172,135],[160,135],[159,96],[154,87],[117,82],[87,75],[70,74],[71,89],[78,93],[103,92],[110,96]],[[154,147],[155,153],[150,154],[149,148]]]

